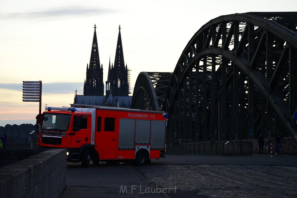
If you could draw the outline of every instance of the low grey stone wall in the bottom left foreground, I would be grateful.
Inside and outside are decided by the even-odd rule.
[[[0,198],[60,197],[66,188],[66,168],[66,149],[49,149],[3,166]]]

